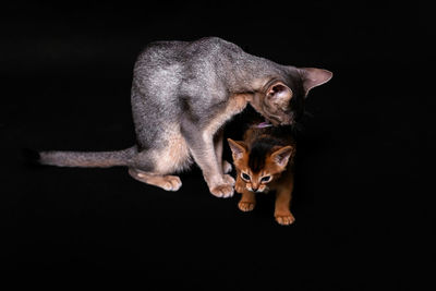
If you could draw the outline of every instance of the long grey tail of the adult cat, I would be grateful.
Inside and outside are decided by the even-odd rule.
[[[116,151],[35,151],[33,155],[40,165],[108,168],[132,165],[136,153],[136,146],[133,146]]]

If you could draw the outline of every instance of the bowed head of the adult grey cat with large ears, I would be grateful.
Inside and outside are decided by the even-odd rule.
[[[255,93],[252,106],[274,125],[292,125],[304,113],[308,92],[331,76],[324,69],[286,66],[284,73],[270,77]]]

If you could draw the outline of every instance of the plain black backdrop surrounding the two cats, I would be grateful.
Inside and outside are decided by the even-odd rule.
[[[61,2],[16,1],[0,12],[2,269],[130,270],[142,287],[157,281],[160,289],[423,284],[433,256],[432,190],[421,170],[434,140],[435,101],[425,89],[434,61],[427,8]],[[238,195],[214,197],[197,168],[170,193],[134,181],[125,168],[25,165],[22,148],[131,146],[137,53],[153,40],[204,36],[278,63],[334,72],[307,99],[313,118],[299,140],[293,226],[274,221],[271,195],[250,214],[238,210]],[[238,122],[228,125],[228,136],[238,135]],[[49,277],[39,280],[52,282]]]

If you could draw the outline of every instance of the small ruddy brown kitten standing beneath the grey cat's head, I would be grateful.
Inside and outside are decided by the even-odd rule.
[[[276,191],[274,216],[282,226],[295,218],[290,211],[293,190],[295,142],[289,126],[252,125],[243,142],[228,138],[237,170],[234,190],[242,194],[238,206],[251,211],[256,205],[255,193]]]

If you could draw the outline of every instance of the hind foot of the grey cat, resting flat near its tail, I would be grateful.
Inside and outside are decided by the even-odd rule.
[[[178,191],[182,186],[182,181],[177,175],[157,174],[129,168],[130,175],[141,182],[161,187],[166,191]]]

